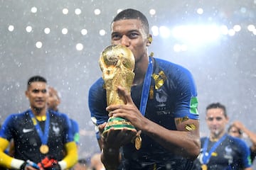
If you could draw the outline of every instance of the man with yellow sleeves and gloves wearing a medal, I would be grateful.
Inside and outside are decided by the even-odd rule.
[[[8,169],[68,169],[78,152],[68,116],[47,110],[48,85],[40,76],[28,79],[30,108],[9,115],[0,131],[0,166]],[[14,157],[4,153],[14,140]],[[67,153],[63,155],[63,150]]]

